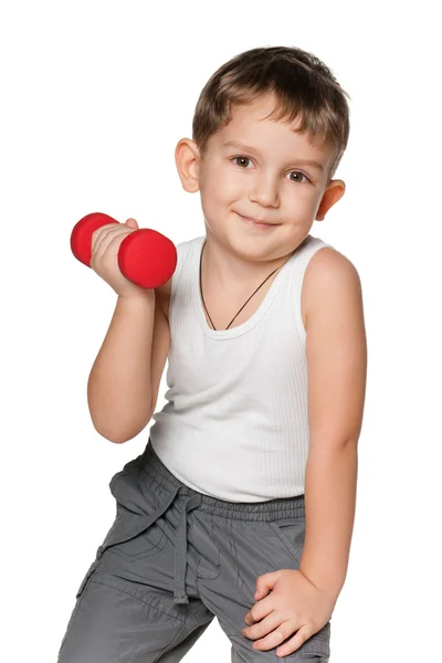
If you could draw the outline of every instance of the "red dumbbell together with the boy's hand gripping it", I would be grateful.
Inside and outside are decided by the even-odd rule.
[[[101,212],[87,214],[75,224],[71,249],[117,294],[130,290],[126,280],[141,288],[159,287],[177,266],[175,244],[164,234],[149,228],[138,229],[135,219],[118,223]]]

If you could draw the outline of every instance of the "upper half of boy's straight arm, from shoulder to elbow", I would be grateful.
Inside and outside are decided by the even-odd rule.
[[[351,261],[329,246],[312,256],[305,275],[309,449],[341,449],[357,442],[365,402],[360,278]]]

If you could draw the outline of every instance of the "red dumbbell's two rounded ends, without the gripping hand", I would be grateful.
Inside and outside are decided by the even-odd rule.
[[[93,212],[83,217],[71,234],[71,250],[80,262],[91,266],[92,234],[107,223],[118,223],[112,217]],[[146,288],[164,285],[177,266],[177,249],[166,235],[140,228],[129,233],[118,250],[118,267],[124,276]]]

